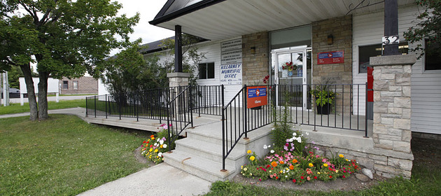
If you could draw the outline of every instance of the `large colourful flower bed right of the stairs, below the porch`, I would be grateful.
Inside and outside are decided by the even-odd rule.
[[[301,184],[345,179],[360,169],[356,160],[348,160],[342,154],[332,155],[331,158],[316,154],[318,147],[307,145],[305,141],[303,134],[297,131],[293,132],[293,137],[286,139],[282,148],[271,149],[263,158],[258,159],[248,150],[249,164],[241,166],[241,174],[259,181],[272,179]],[[272,146],[265,145],[263,148]]]

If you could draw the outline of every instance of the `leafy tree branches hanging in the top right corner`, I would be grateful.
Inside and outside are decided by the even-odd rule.
[[[425,53],[441,54],[441,1],[416,0],[415,3],[423,8],[416,19],[418,23],[404,32],[409,43],[417,43],[410,51],[421,52],[419,58]],[[426,47],[422,42],[426,41]]]

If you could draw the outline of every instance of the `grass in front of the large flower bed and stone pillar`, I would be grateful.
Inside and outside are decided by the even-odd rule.
[[[430,141],[430,142],[428,142]],[[302,191],[243,186],[240,183],[213,183],[207,195],[441,195],[441,141],[412,139],[414,166],[412,179],[389,179],[370,189],[358,191]],[[297,186],[297,185],[293,185]]]

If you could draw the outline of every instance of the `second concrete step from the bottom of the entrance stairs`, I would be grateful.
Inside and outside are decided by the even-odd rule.
[[[176,141],[176,149],[215,162],[222,163],[223,161],[222,145],[214,144],[204,140],[197,140],[190,137],[186,139],[180,139]],[[246,160],[245,146],[243,144],[237,144],[233,151],[231,151],[230,155],[228,155],[228,158],[225,160],[225,164],[237,167],[240,166],[240,162],[243,162],[244,160]]]

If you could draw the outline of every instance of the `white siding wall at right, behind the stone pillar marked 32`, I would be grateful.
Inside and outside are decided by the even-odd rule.
[[[402,33],[414,26],[418,15],[417,6],[398,9],[400,41]],[[353,83],[366,83],[367,74],[358,73],[358,46],[381,43],[384,36],[384,12],[353,16]],[[412,48],[412,45],[409,45]],[[423,71],[423,59],[412,66],[412,132],[441,134],[441,71]],[[364,89],[363,89],[364,90]],[[363,91],[364,92],[364,91]],[[356,96],[356,94],[354,94]],[[360,113],[364,114],[365,99],[360,102]],[[356,110],[357,103],[354,103]]]

